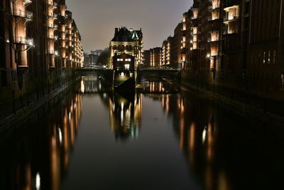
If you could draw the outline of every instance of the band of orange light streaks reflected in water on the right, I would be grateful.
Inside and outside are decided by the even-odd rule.
[[[229,190],[226,171],[216,169],[216,122],[209,106],[182,95],[160,95],[163,110],[173,116],[174,130],[182,152],[188,159],[190,169],[202,179],[204,189]],[[218,184],[216,184],[218,181]]]

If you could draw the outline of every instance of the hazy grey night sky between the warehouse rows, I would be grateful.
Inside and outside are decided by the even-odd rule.
[[[82,36],[84,52],[106,48],[114,28],[143,31],[144,49],[161,46],[182,21],[192,0],[66,0]]]

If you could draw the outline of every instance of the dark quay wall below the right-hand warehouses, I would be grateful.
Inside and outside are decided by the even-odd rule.
[[[202,75],[188,75],[186,71],[182,71],[181,82],[182,85],[210,93],[244,112],[254,110],[283,120],[283,90],[273,88],[269,82],[262,83],[261,80],[258,85],[252,85],[251,80],[230,78],[231,75],[226,75],[224,79],[204,80]]]

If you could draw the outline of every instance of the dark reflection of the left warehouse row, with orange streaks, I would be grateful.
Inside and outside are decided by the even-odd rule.
[[[60,189],[82,115],[82,95],[70,96],[2,138],[0,189]]]

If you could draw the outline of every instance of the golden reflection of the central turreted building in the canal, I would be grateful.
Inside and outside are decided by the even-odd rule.
[[[109,117],[116,138],[135,139],[141,126],[142,95],[129,97],[115,93],[109,97]]]

